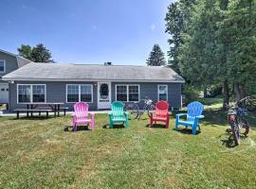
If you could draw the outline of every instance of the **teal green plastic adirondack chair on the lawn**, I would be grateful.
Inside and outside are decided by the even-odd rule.
[[[123,103],[115,101],[111,104],[111,112],[108,112],[109,128],[113,129],[115,123],[124,123],[125,127],[129,127],[129,113],[123,112]]]

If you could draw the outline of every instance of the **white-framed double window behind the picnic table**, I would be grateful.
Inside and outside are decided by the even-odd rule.
[[[46,102],[45,84],[18,85],[18,103],[44,103]]]

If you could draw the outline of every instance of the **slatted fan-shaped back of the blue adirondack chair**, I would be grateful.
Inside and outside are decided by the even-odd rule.
[[[204,111],[204,106],[197,101],[194,101],[188,105],[187,121],[194,121],[195,116],[199,116]]]

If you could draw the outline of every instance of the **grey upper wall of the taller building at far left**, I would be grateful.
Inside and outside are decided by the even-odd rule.
[[[3,77],[10,72],[18,69],[16,57],[0,52],[0,60],[6,60],[6,73],[0,73],[0,77]]]

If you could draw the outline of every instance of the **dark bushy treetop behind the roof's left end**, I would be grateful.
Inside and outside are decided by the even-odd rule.
[[[51,60],[51,53],[43,43],[39,43],[33,48],[30,45],[22,44],[20,48],[18,48],[19,56],[26,58],[27,60],[31,60],[34,62],[49,62]]]

